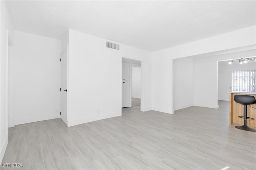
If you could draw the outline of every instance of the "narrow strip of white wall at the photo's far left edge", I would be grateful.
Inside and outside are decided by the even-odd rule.
[[[4,156],[8,144],[8,114],[7,110],[7,86],[6,86],[6,55],[7,43],[13,42],[13,26],[8,14],[6,2],[0,1],[0,161]],[[7,31],[8,30],[8,36]]]

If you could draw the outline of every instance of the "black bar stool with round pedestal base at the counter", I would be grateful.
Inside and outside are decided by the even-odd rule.
[[[255,132],[256,129],[250,128],[250,127],[247,126],[247,119],[254,120],[251,117],[247,117],[247,105],[252,105],[252,104],[256,103],[255,97],[254,96],[248,96],[248,95],[235,95],[234,96],[234,101],[236,103],[240,103],[241,105],[244,105],[244,116],[238,116],[240,118],[244,118],[244,125],[243,126],[235,126],[235,127],[239,128],[239,129],[242,129],[242,130]]]

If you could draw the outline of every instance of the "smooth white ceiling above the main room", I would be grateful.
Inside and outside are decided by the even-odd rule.
[[[60,39],[70,28],[147,51],[256,25],[256,1],[8,1],[14,29]]]

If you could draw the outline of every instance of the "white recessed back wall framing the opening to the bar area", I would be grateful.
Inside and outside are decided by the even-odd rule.
[[[194,105],[218,108],[218,61],[255,55],[255,50],[250,50],[194,58]]]

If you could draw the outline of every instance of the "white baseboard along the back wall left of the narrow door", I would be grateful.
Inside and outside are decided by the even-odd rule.
[[[21,125],[24,123],[32,123],[32,122],[45,121],[45,120],[57,119],[57,118],[60,118],[60,115],[53,114],[53,115],[44,115],[44,116],[38,116],[38,117],[27,117],[27,118],[15,120],[15,125]]]

